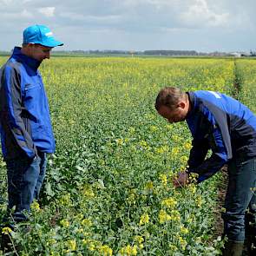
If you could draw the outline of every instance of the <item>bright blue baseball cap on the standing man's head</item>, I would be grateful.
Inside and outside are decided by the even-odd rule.
[[[47,47],[63,45],[53,37],[53,33],[44,25],[33,25],[23,31],[23,43],[39,43]]]

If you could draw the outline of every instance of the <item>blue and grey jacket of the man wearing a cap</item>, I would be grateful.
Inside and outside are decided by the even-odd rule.
[[[55,151],[41,62],[16,47],[0,69],[0,132],[3,158],[34,158]]]

